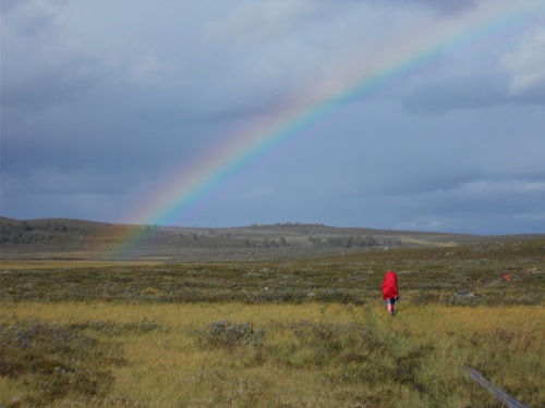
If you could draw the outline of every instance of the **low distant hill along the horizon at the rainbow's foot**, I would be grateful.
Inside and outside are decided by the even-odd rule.
[[[545,238],[545,234],[476,236],[302,223],[167,227],[73,219],[0,218],[2,259],[258,260],[538,238]]]

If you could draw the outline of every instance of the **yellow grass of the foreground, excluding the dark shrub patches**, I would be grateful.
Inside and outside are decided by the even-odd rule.
[[[393,393],[393,406],[425,407],[425,397],[404,385],[383,388],[380,384],[340,384],[328,381],[343,374],[347,367],[328,368],[304,364],[308,349],[290,349],[296,344],[293,334],[282,324],[300,321],[315,323],[354,323],[378,333],[380,341],[397,342],[398,347],[411,349],[419,345],[429,347],[429,358],[419,381],[431,388],[440,387],[452,378],[464,378],[463,366],[480,363],[486,353],[506,353],[495,349],[494,333],[516,333],[521,338],[508,343],[519,362],[510,356],[496,356],[506,361],[505,371],[497,379],[509,375],[538,375],[523,368],[543,361],[545,342],[545,308],[543,307],[477,307],[445,308],[438,306],[404,306],[396,318],[389,317],[382,304],[354,307],[336,304],[305,305],[244,305],[244,304],[182,304],[129,305],[104,302],[19,302],[2,304],[0,318],[5,321],[36,319],[57,324],[82,322],[130,323],[148,321],[159,325],[148,333],[128,332],[116,337],[122,344],[128,361],[111,367],[114,388],[107,401],[126,401],[149,407],[171,406],[354,406],[358,400],[373,406],[382,393]],[[196,339],[195,331],[206,330],[210,322],[228,320],[250,322],[265,327],[266,350],[205,347]],[[498,332],[500,331],[500,332]],[[107,335],[107,334],[99,334]],[[476,337],[475,337],[476,336]],[[488,342],[488,337],[489,342]],[[467,342],[467,344],[464,344]],[[473,342],[473,343],[472,343]],[[481,342],[475,346],[475,342]],[[488,343],[487,343],[488,342]],[[525,348],[528,348],[528,350]],[[531,349],[533,347],[533,349]],[[483,349],[486,353],[483,354]],[[299,354],[298,354],[299,353]],[[524,360],[525,353],[530,356]],[[286,361],[279,362],[288,355]],[[270,357],[274,356],[274,357]],[[384,356],[388,358],[388,356]],[[347,362],[348,364],[353,362]],[[370,368],[372,370],[372,368]],[[479,386],[459,380],[460,387]],[[530,378],[524,381],[543,381]],[[542,382],[543,384],[543,382]],[[23,393],[22,384],[0,378],[0,406]],[[484,392],[483,392],[484,393]],[[463,394],[463,392],[461,392]],[[448,397],[446,397],[448,398]],[[469,397],[468,397],[469,398]],[[487,397],[484,397],[487,398]],[[544,401],[543,392],[536,397]],[[489,400],[489,399],[485,399]],[[446,406],[471,405],[458,396],[446,399]],[[76,401],[61,401],[60,406],[75,406]],[[364,406],[364,405],[363,405]]]

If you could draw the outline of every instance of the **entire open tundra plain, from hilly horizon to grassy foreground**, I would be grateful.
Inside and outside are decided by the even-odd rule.
[[[1,407],[545,405],[545,235],[0,227]]]

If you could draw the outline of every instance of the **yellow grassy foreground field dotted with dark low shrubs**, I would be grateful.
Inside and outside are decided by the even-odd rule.
[[[543,406],[542,307],[2,305],[4,406]]]

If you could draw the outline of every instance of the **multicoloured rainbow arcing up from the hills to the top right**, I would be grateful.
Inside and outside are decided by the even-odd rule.
[[[432,70],[434,61],[444,52],[471,52],[486,46],[486,41],[506,38],[510,29],[524,27],[532,18],[544,15],[543,1],[498,0],[422,26],[398,44],[373,54],[372,63],[370,59],[355,60],[352,69],[343,73],[342,82],[326,84],[319,91],[306,89],[270,109],[252,126],[226,137],[222,146],[208,151],[193,165],[173,172],[124,222],[175,224],[181,214],[196,211],[202,201],[218,189],[227,188],[244,171],[307,134],[313,124],[332,115],[339,104],[370,100],[411,75]],[[121,237],[118,250],[126,248],[130,240],[128,236]]]

